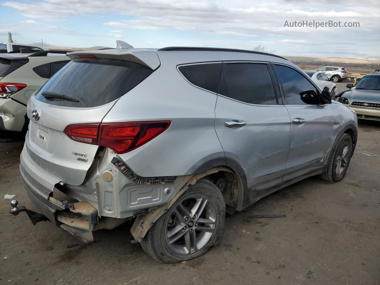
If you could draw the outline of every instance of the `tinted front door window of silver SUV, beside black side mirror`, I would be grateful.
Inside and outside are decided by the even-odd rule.
[[[275,65],[277,77],[282,83],[285,101],[289,105],[319,104],[318,90],[298,71]]]

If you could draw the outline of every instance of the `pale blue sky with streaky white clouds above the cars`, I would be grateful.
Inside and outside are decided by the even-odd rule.
[[[267,47],[279,55],[380,57],[379,0],[0,0],[0,43]],[[290,23],[359,22],[359,27]],[[287,25],[286,25],[287,23]]]

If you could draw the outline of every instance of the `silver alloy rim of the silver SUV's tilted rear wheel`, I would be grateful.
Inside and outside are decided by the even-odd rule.
[[[180,255],[195,253],[211,239],[217,222],[214,204],[203,195],[177,202],[165,224],[169,248]]]

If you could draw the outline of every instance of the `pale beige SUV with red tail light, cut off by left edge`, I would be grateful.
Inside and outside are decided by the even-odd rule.
[[[70,58],[67,51],[0,54],[0,130],[26,131],[26,104]]]

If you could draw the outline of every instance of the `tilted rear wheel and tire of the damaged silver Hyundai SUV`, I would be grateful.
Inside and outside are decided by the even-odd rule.
[[[195,218],[190,212],[192,215],[196,213]],[[152,225],[142,239],[141,247],[160,263],[175,263],[204,255],[213,245],[220,243],[225,215],[222,193],[209,180],[199,179]],[[207,221],[211,223],[205,223]]]

